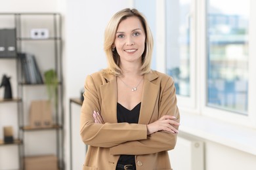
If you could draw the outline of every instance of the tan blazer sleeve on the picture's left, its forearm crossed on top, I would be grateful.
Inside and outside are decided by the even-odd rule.
[[[93,110],[100,111],[98,86],[101,83],[94,79],[92,76],[87,76],[85,81],[84,101],[80,116],[80,135],[83,142],[91,146],[109,148],[126,141],[146,139],[147,129],[143,124],[96,124],[94,122]]]

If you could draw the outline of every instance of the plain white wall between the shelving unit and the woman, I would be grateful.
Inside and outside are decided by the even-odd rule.
[[[104,29],[114,13],[123,8],[132,7],[131,0],[70,0],[66,1],[66,59],[64,80],[66,84],[66,106],[70,97],[80,97],[87,75],[107,66],[103,51]],[[75,110],[77,110],[75,112]],[[77,120],[79,109],[72,109],[72,120]],[[79,120],[79,119],[78,119]],[[69,129],[69,116],[66,111],[66,129]],[[73,124],[74,125],[74,124]],[[79,121],[72,126],[79,131]],[[75,128],[75,129],[74,129]],[[65,133],[66,168],[70,168],[69,133]],[[75,134],[74,132],[72,134]],[[81,139],[73,137],[73,169],[82,167],[84,161]],[[73,135],[72,135],[73,136]],[[79,152],[80,150],[80,152]]]

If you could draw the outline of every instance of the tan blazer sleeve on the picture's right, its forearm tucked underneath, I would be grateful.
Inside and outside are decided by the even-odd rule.
[[[165,114],[175,116],[177,118],[177,122],[180,122],[175,91],[173,79],[169,78],[165,84],[165,87],[163,88],[163,92],[161,93],[159,114],[160,117]],[[175,128],[178,129],[177,126],[175,126]],[[177,133],[174,134],[166,131],[158,131],[148,135],[147,139],[129,141],[126,143],[121,143],[117,146],[113,146],[110,148],[110,154],[152,154],[164,150],[172,150],[175,148],[176,141]]]

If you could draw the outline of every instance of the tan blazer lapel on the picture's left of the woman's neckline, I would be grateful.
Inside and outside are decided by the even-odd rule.
[[[116,123],[117,122],[117,84],[116,76],[103,75],[106,79],[106,84],[100,86],[100,95],[102,97],[102,118],[105,122]],[[108,114],[107,116],[105,116]]]

